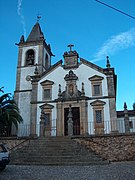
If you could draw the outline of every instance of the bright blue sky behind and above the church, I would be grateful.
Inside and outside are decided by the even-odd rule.
[[[135,0],[102,0],[135,17]],[[67,45],[74,44],[80,57],[106,67],[106,56],[115,68],[117,110],[135,102],[135,19],[95,0],[0,0],[0,87],[13,93],[18,43],[25,39],[40,14],[46,42],[51,44],[52,64],[63,59]]]

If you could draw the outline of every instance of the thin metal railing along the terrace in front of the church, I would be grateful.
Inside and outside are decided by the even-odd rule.
[[[124,119],[117,119],[116,121],[116,127],[118,130],[118,133],[126,133],[125,132],[125,122]],[[133,133],[135,132],[135,119],[129,120],[129,132]],[[34,129],[34,132],[37,136],[40,136],[40,124],[36,124],[34,127],[30,124],[19,124],[18,130],[16,135],[18,137],[28,137],[31,135],[32,129]],[[110,121],[104,121],[102,123],[96,123],[95,122],[81,122],[79,124],[79,127],[73,126],[74,128],[74,135],[76,134],[76,129],[78,132],[78,129],[80,134],[88,134],[88,135],[94,135],[94,134],[110,134],[111,133],[111,122]],[[50,123],[50,126],[46,127],[44,126],[44,135],[49,136],[57,136],[58,129],[56,128],[56,120],[53,120]],[[78,135],[78,134],[77,134]],[[7,127],[0,128],[0,137],[9,137],[12,136],[12,131],[7,131]]]

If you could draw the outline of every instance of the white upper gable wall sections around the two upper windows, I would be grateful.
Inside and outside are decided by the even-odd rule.
[[[77,80],[77,87],[78,90],[81,91],[82,88],[82,82],[84,82],[84,89],[85,89],[85,95],[88,97],[92,97],[92,87],[91,87],[91,82],[88,80],[89,77],[92,77],[94,75],[99,75],[104,77],[102,81],[102,93],[103,96],[108,95],[107,91],[107,80],[106,76],[84,64],[81,64],[79,68],[73,69],[73,72],[77,75],[78,80]],[[69,73],[69,70],[63,69],[61,66],[59,66],[55,71],[52,71],[45,77],[43,77],[39,81],[38,85],[38,100],[42,100],[42,86],[40,85],[41,82],[45,80],[50,80],[53,81],[53,89],[52,89],[52,99],[57,99],[58,98],[58,88],[59,84],[61,84],[61,91],[65,90],[66,87],[66,81],[64,80],[64,77],[66,74]]]

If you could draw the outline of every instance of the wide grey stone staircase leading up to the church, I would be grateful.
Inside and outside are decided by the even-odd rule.
[[[27,146],[12,151],[10,164],[96,165],[107,162],[69,137],[50,137],[31,140]]]

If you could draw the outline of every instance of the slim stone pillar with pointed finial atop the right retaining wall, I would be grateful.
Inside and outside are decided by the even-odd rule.
[[[126,103],[124,103],[124,124],[125,124],[125,133],[130,132],[129,116],[128,116],[128,110],[127,110]]]

